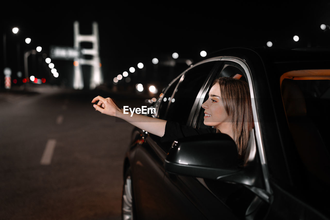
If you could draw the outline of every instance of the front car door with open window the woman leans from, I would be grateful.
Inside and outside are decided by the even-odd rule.
[[[201,109],[201,104],[206,100],[206,94],[215,78],[236,76],[241,80],[248,81],[249,69],[242,62],[242,59],[217,57],[214,60],[222,60],[223,62],[218,72],[210,76],[210,80],[195,102],[195,113],[190,115],[191,126],[193,127],[205,127],[203,125],[204,111]],[[249,79],[251,81],[251,78]],[[270,198],[265,187],[266,181],[261,171],[260,160],[256,156],[258,149],[256,149],[254,131],[251,139],[253,140],[250,142],[250,149],[253,149],[251,150],[252,159],[249,159],[250,168],[247,169],[249,173],[243,174],[243,176],[246,175],[246,178],[239,177],[238,179],[221,181],[165,173],[164,184],[171,192],[168,194],[169,201],[173,201],[173,206],[181,208],[177,211],[182,216],[186,210],[181,201],[185,200],[193,203],[194,209],[198,210],[206,219],[259,219],[265,216]],[[248,164],[248,159],[246,161]],[[255,178],[256,181],[250,185],[242,184],[251,178]],[[177,216],[177,213],[172,214],[172,218]]]

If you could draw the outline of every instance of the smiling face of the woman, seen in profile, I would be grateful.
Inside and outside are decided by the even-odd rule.
[[[205,113],[204,124],[207,126],[214,126],[221,131],[221,128],[228,126],[226,122],[231,122],[222,104],[220,85],[218,83],[212,86],[209,98],[202,104],[202,108],[204,108]]]

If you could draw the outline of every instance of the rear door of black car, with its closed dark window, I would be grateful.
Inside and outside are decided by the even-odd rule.
[[[185,71],[169,88],[164,91],[157,109],[157,118],[187,124],[197,95],[204,88],[217,62],[201,63]],[[203,219],[203,215],[194,208],[188,198],[182,197],[180,205],[174,205],[172,194],[175,190],[163,181],[163,166],[167,151],[172,142],[163,143],[160,137],[140,130],[140,145],[134,150],[132,166],[133,188],[137,215],[141,219]],[[175,215],[174,215],[175,213]]]

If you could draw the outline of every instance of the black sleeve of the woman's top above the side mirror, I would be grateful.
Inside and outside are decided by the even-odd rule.
[[[195,136],[200,134],[215,133],[214,128],[192,128],[187,125],[180,125],[177,122],[167,121],[165,126],[164,136],[161,137],[161,142],[175,141],[182,137]]]

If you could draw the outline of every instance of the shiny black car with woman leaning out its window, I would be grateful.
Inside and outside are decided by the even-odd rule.
[[[175,78],[150,117],[206,128],[201,105],[220,76],[249,85],[254,129],[244,163],[220,134],[166,143],[136,128],[122,218],[330,219],[330,50],[218,51]]]

